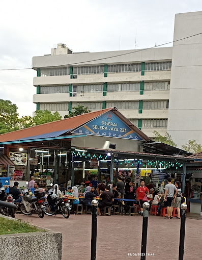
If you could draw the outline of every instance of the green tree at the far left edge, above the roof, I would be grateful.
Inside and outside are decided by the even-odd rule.
[[[0,123],[5,123],[8,127],[16,126],[18,122],[17,106],[10,100],[0,99]]]

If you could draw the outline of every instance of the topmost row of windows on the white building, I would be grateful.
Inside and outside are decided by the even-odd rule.
[[[145,71],[153,70],[170,70],[171,61],[166,62],[146,62]],[[132,64],[113,64],[108,65],[108,73],[124,73],[124,72],[138,72],[141,71],[141,63]],[[104,73],[104,65],[98,66],[81,66],[73,67],[73,75],[83,74],[102,74]],[[40,71],[41,76],[64,76],[69,74],[69,67],[51,67],[42,68]]]

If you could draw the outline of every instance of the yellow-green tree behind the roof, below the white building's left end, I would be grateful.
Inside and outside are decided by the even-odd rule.
[[[36,125],[39,125],[39,124],[45,124],[48,122],[57,121],[60,119],[62,119],[62,116],[60,116],[60,114],[57,111],[51,114],[51,112],[48,110],[44,110],[44,111],[37,110],[36,115],[33,117],[33,122]]]

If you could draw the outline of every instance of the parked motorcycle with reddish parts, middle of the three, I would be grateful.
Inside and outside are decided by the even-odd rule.
[[[44,203],[44,196],[46,194],[44,189],[36,189],[34,191],[35,197],[33,197],[33,194],[30,194],[28,192],[28,189],[25,189],[22,191],[23,197],[22,197],[22,204],[20,207],[20,211],[24,215],[32,215],[33,213],[37,213],[40,218],[44,217],[44,211],[42,210],[42,206]]]

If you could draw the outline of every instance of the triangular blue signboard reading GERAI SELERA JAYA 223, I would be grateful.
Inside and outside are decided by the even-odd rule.
[[[140,136],[111,111],[79,127],[73,133],[142,140]]]

